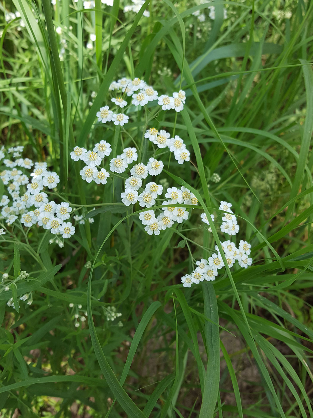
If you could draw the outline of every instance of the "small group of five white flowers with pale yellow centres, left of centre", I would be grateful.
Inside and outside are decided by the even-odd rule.
[[[97,143],[93,151],[87,151],[86,148],[75,147],[71,152],[71,158],[74,161],[83,161],[86,166],[81,169],[80,175],[87,183],[94,181],[96,184],[106,184],[106,179],[110,177],[110,173],[104,168],[98,170],[104,157],[111,154],[111,145],[106,141]]]

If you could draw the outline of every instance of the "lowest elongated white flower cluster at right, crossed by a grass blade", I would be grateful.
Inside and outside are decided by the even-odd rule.
[[[250,254],[251,245],[247,241],[241,240],[237,248],[234,242],[221,242],[228,267],[232,267],[237,260],[242,268],[247,268],[252,264],[252,258],[248,257]],[[184,287],[191,287],[192,283],[198,284],[204,280],[215,280],[218,275],[218,270],[225,266],[220,251],[215,245],[216,253],[213,253],[207,260],[202,258],[196,262],[197,267],[191,274],[186,274],[182,277]]]

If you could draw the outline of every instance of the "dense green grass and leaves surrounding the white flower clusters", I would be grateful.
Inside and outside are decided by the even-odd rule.
[[[212,4],[147,0],[138,14],[122,0],[0,5],[1,145],[46,161],[60,176],[49,199],[85,219],[63,247],[21,224],[0,236],[0,273],[17,280],[0,289],[2,416],[70,417],[77,404],[94,417],[313,417],[313,4],[215,1],[214,20]],[[147,159],[149,107],[133,107],[124,129],[97,122],[124,76],[186,92],[182,112],[154,123],[191,152],[182,166],[164,157],[164,186],[186,186],[199,203],[159,236],[144,231],[138,203],[121,204],[122,176],[87,184],[70,158],[100,140],[113,158],[134,138]],[[217,219],[222,200],[253,264],[183,288],[194,261],[228,239],[221,221],[211,233],[200,221]],[[30,306],[7,305],[30,291]]]

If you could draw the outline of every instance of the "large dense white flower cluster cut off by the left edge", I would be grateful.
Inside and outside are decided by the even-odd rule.
[[[13,154],[13,158],[20,157],[23,146],[11,147],[8,154]],[[3,184],[7,186],[8,195],[4,194],[0,201],[0,219],[5,219],[7,224],[13,224],[21,215],[20,222],[25,227],[32,227],[38,223],[44,229],[49,229],[51,233],[61,233],[63,238],[69,238],[75,232],[75,227],[71,222],[64,222],[70,217],[72,208],[67,202],[56,204],[49,201],[48,195],[43,191],[45,187],[54,189],[60,182],[60,178],[54,171],[48,171],[47,163],[31,161],[29,158],[18,158],[13,161],[5,157],[5,149],[0,150],[0,161],[3,160],[5,169],[0,172]],[[30,177],[25,170],[33,169]],[[10,200],[12,199],[12,202]],[[10,206],[9,204],[12,203]],[[34,206],[33,210],[31,207]],[[5,234],[4,229],[0,229],[0,235]]]

